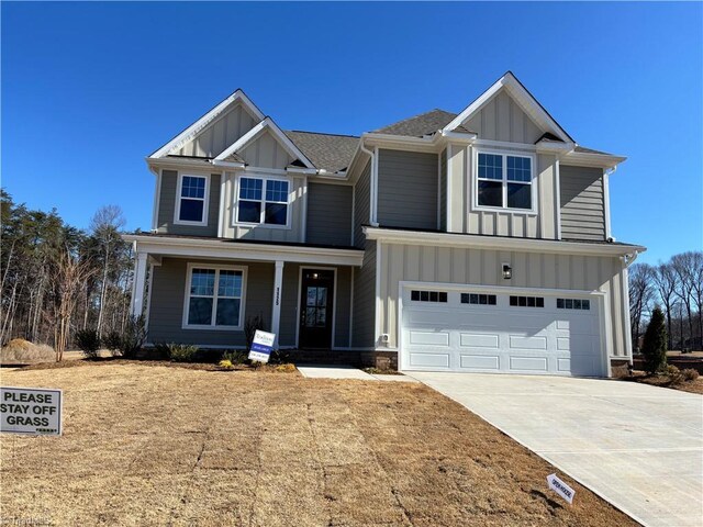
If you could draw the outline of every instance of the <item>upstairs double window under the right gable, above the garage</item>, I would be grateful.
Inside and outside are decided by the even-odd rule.
[[[533,158],[478,154],[477,205],[532,211]]]

